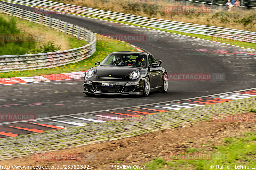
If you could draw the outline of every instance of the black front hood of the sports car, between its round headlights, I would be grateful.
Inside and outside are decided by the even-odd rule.
[[[124,78],[140,69],[142,67],[102,65],[97,67],[96,76],[98,78]]]

